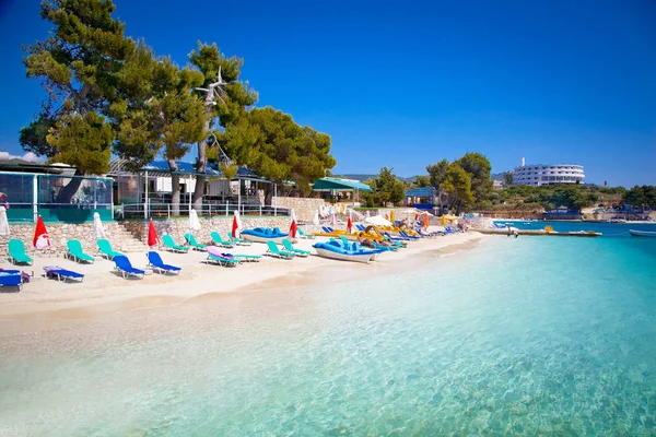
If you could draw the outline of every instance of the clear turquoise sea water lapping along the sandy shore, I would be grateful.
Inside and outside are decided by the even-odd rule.
[[[412,263],[4,340],[0,435],[654,435],[655,240]]]

